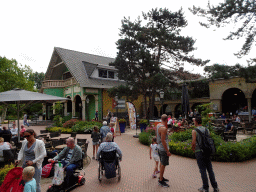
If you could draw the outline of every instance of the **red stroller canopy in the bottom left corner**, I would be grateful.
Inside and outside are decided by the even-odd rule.
[[[11,169],[4,178],[0,192],[23,192],[25,183],[22,180],[22,171],[21,167]]]

